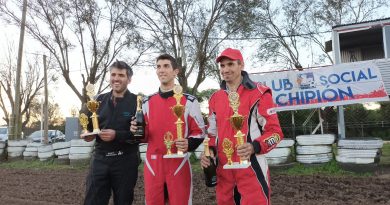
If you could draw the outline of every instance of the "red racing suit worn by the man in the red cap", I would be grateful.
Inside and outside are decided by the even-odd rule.
[[[245,141],[252,143],[255,154],[250,157],[251,166],[246,169],[223,169],[227,157],[223,152],[224,138],[236,146],[236,131],[230,125],[233,115],[228,99],[226,82],[216,91],[209,101],[208,135],[210,146],[214,146],[218,156],[217,166],[217,203],[230,204],[270,204],[270,176],[265,153],[271,151],[283,138],[276,113],[273,111],[271,90],[260,83],[251,81],[242,71],[243,81],[238,87],[240,98],[238,113],[245,117],[242,133]],[[240,159],[233,153],[233,162]],[[238,191],[238,193],[237,193]],[[236,201],[236,203],[235,203]]]

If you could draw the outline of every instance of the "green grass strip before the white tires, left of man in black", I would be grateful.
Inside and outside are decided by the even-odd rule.
[[[86,170],[87,165],[78,165],[78,166],[70,166],[70,165],[62,165],[56,164],[54,160],[47,161],[25,161],[25,160],[17,160],[12,162],[2,162],[0,163],[0,168],[8,168],[8,169],[36,169],[36,170]]]

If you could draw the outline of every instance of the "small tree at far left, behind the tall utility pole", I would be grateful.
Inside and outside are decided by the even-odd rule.
[[[21,95],[20,113],[23,116],[22,127],[25,127],[31,118],[31,103],[39,95],[40,90],[44,86],[42,69],[43,66],[40,62],[40,56],[35,55],[32,60],[27,62],[27,66],[24,68],[21,81]],[[4,113],[4,121],[7,125],[10,122],[10,112],[15,106],[14,91],[15,91],[15,77],[16,77],[16,55],[12,49],[12,46],[8,47],[8,55],[6,57],[6,63],[0,64],[0,108]],[[48,66],[50,67],[50,65]],[[56,78],[50,74],[50,81],[54,82]]]

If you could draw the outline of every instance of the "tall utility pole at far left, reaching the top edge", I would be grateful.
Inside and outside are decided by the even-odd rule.
[[[26,13],[27,13],[27,0],[23,0],[23,13],[22,21],[20,23],[20,36],[19,36],[19,50],[18,50],[18,64],[16,68],[16,83],[15,83],[15,105],[12,110],[10,119],[10,140],[18,140],[21,138],[21,116],[20,116],[20,75],[22,71],[22,59],[23,59],[23,44],[24,44],[24,30],[26,27]]]

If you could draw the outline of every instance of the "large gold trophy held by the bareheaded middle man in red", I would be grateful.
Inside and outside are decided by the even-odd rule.
[[[177,139],[183,139],[183,120],[181,120],[181,116],[184,114],[185,107],[180,104],[180,100],[183,97],[183,88],[180,85],[175,85],[173,87],[173,97],[176,99],[176,105],[172,107],[173,114],[177,117],[175,122],[176,131],[177,131]],[[164,155],[163,158],[183,158],[187,154],[184,154],[182,151],[177,151],[177,154]]]

